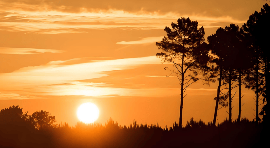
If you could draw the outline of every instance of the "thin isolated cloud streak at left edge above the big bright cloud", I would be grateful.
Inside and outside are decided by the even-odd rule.
[[[35,49],[35,48],[9,48],[0,47],[0,54],[44,54],[44,53],[62,53],[63,50],[55,49]]]

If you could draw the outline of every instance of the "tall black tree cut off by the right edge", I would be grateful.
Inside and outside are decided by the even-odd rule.
[[[269,45],[270,40],[270,7],[266,3],[261,12],[255,11],[249,16],[247,23],[244,23],[243,29],[247,36],[250,37],[251,48],[253,49],[253,55],[255,65],[253,68],[253,75],[250,75],[250,83],[247,86],[252,88],[256,93],[256,124],[259,119],[259,96],[262,95],[263,103],[267,102],[266,82],[269,76]]]

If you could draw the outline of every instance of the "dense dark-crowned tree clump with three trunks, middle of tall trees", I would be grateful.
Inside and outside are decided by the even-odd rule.
[[[241,41],[242,35],[240,34],[240,29],[235,24],[230,24],[230,26],[226,26],[225,28],[218,28],[214,35],[208,36],[209,48],[213,54],[218,56],[215,58],[213,62],[215,62],[219,67],[219,85],[214,112],[214,120],[213,124],[215,125],[215,121],[217,118],[218,105],[221,104],[223,107],[227,106],[227,103],[224,103],[227,98],[229,98],[229,122],[232,121],[232,89],[237,85],[232,86],[233,80],[238,80],[239,84],[239,116],[241,116],[241,85],[243,76],[243,68],[248,62],[248,58],[244,56],[247,53],[245,50],[247,49],[247,45],[245,42]],[[241,58],[242,57],[242,58]],[[246,58],[246,59],[245,59]],[[238,77],[236,75],[238,71]],[[241,73],[242,72],[242,73]],[[220,96],[221,93],[221,81],[224,80],[223,85],[228,85],[226,88],[228,89],[227,93],[222,93],[223,96]],[[222,101],[220,101],[222,99]]]

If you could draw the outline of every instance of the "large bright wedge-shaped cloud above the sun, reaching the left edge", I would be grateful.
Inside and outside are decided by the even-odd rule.
[[[134,94],[132,89],[110,88],[111,84],[79,80],[106,77],[110,71],[132,69],[138,65],[160,64],[160,59],[150,56],[63,65],[65,62],[76,60],[78,59],[51,61],[46,65],[28,66],[11,73],[0,74],[0,90],[9,92],[1,98],[23,99],[37,95],[127,95],[129,92]]]

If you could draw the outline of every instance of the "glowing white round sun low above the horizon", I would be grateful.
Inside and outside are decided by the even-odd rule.
[[[99,109],[93,103],[87,102],[79,106],[77,116],[80,121],[88,124],[93,123],[99,117]]]

